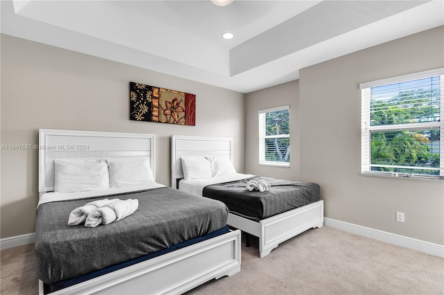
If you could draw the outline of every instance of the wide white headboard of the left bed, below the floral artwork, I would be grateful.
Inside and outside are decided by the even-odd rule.
[[[150,158],[155,179],[155,135],[39,129],[39,192],[54,190],[54,159]]]

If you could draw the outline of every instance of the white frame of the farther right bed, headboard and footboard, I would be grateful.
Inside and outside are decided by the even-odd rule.
[[[181,157],[224,157],[233,159],[232,138],[178,136],[171,138],[171,184],[178,187],[183,178]],[[228,224],[259,238],[259,256],[267,256],[281,242],[307,229],[321,227],[324,223],[323,200],[287,211],[260,222],[230,213]]]

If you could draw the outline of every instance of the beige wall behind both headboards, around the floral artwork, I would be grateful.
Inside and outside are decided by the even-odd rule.
[[[129,120],[129,82],[196,94],[196,126]],[[170,136],[234,138],[244,171],[244,94],[1,35],[1,144],[36,144],[39,128],[156,135],[157,182],[170,184]],[[33,233],[37,150],[1,150],[1,238]]]

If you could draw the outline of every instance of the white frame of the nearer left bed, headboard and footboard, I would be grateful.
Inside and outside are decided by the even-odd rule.
[[[39,141],[40,194],[53,191],[54,159],[149,157],[155,176],[153,134],[40,129]],[[182,294],[240,269],[241,232],[230,231],[51,294]]]

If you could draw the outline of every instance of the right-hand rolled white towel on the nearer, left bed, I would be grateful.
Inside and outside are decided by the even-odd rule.
[[[138,207],[139,200],[137,199],[117,199],[117,201],[105,204],[89,214],[85,221],[85,227],[96,227],[99,224],[110,224],[123,220],[133,214]]]

